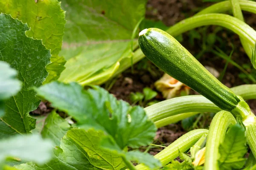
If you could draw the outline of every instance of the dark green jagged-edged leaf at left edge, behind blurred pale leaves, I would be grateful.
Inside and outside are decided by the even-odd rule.
[[[35,128],[35,119],[29,112],[39,103],[32,87],[39,87],[47,77],[45,66],[51,57],[41,40],[26,37],[26,24],[6,14],[0,14],[0,60],[18,71],[22,89],[6,101],[6,114],[0,118],[0,138],[8,133],[29,133]]]

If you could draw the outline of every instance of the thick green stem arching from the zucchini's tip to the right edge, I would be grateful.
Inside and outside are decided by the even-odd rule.
[[[170,27],[166,32],[175,37],[185,31],[208,25],[228,28],[243,38],[251,47],[254,47],[256,31],[241,20],[227,14],[202,14],[190,17]],[[247,55],[251,57],[252,51]]]

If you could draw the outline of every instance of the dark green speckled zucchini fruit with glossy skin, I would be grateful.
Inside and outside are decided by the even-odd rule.
[[[148,28],[139,36],[140,49],[164,72],[188,85],[219,108],[232,111],[240,102],[233,91],[198,62],[174,37],[158,28]]]

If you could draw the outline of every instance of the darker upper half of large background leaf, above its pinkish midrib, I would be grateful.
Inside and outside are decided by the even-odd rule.
[[[146,0],[62,0],[67,11],[64,42],[131,39]]]

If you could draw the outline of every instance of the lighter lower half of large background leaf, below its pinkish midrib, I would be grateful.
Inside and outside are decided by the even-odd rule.
[[[92,79],[96,75],[111,69],[111,66],[115,65],[123,57],[131,56],[131,52],[127,48],[128,44],[128,41],[120,41],[80,47],[63,47],[60,54],[65,57],[67,63],[65,65],[66,69],[61,73],[59,81],[76,81],[81,85],[100,84],[93,82],[93,80],[88,81],[88,79]],[[101,80],[104,78],[106,77],[102,77]]]

